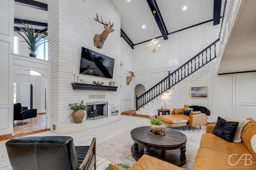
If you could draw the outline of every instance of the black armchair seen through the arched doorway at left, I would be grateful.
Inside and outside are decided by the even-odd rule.
[[[22,120],[24,125],[24,119],[33,118],[36,121],[37,109],[28,109],[28,107],[22,107],[20,103],[14,104],[13,108],[13,120]]]

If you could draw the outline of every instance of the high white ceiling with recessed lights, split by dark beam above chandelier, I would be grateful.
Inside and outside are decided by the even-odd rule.
[[[154,17],[146,0],[112,0],[112,2],[121,14],[121,29],[134,44],[154,37]],[[213,2],[213,0],[156,0],[168,33],[212,20]],[[185,11],[184,6],[187,7]],[[146,27],[143,29],[142,25]],[[155,25],[155,37],[159,36],[161,36],[160,30]]]

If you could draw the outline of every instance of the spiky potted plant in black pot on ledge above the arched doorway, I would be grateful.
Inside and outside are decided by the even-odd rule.
[[[22,21],[23,23],[23,21]],[[28,23],[23,23],[23,27],[14,27],[14,31],[18,33],[20,36],[24,38],[25,41],[21,42],[26,42],[28,43],[28,49],[30,49],[30,57],[36,57],[36,49],[44,43],[44,38],[47,36],[46,31],[43,31],[43,29],[40,29],[39,31],[36,32],[36,27],[32,27],[28,25]],[[22,34],[23,33],[23,34]]]

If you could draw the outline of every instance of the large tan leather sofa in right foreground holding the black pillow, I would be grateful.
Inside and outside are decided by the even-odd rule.
[[[214,135],[215,125],[206,125],[193,170],[255,170],[256,121],[251,118],[246,120],[250,122],[241,129],[241,143],[230,143]]]

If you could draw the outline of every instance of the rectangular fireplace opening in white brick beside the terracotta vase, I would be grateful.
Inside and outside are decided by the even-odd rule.
[[[87,111],[87,120],[108,117],[108,102],[86,103],[86,105],[91,107]]]

